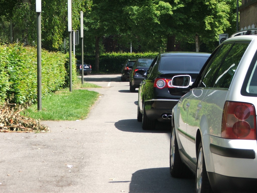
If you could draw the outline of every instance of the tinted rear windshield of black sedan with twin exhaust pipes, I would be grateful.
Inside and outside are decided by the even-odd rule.
[[[163,56],[159,70],[199,72],[207,59],[204,56]]]

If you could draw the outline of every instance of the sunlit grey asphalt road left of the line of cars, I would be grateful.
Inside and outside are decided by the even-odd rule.
[[[101,97],[85,120],[43,121],[48,133],[0,133],[0,192],[194,192],[169,173],[169,125],[142,130],[137,95],[116,75],[87,75]],[[79,99],[74,102],[79,102]]]

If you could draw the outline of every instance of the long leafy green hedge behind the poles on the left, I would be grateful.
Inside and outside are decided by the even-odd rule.
[[[69,55],[41,51],[42,97],[69,85]],[[73,56],[72,79],[76,79]],[[22,44],[0,45],[0,103],[37,100],[37,50]]]

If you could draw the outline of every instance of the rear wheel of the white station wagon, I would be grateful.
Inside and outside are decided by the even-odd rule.
[[[196,193],[213,193],[206,172],[204,151],[202,142],[200,142],[197,152],[196,175],[195,175]]]

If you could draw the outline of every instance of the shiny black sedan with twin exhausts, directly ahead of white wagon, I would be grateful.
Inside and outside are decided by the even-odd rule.
[[[170,121],[172,108],[182,95],[190,90],[209,53],[164,52],[154,58],[138,90],[137,120],[143,129],[154,129],[156,121]],[[182,79],[180,87],[172,86],[172,78],[190,75]],[[177,78],[178,80],[178,78]],[[187,86],[187,87],[186,87]]]

